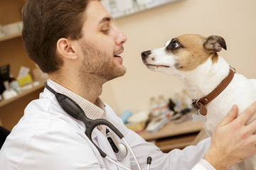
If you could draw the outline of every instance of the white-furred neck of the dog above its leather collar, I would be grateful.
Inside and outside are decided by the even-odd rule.
[[[230,66],[219,56],[218,62],[209,58],[205,63],[191,72],[180,72],[178,78],[191,94],[191,98],[201,98],[210,94],[225,77],[228,76]]]

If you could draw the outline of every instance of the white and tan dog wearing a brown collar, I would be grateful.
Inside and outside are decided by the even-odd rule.
[[[181,79],[193,98],[191,106],[206,118],[204,128],[210,136],[234,104],[240,113],[256,101],[256,79],[235,73],[218,55],[222,48],[227,50],[225,40],[217,35],[181,35],[164,47],[142,52],[146,67]],[[256,170],[256,155],[245,162],[233,169]]]

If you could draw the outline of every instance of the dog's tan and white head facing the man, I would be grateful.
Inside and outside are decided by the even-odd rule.
[[[208,38],[202,35],[181,35],[166,42],[164,47],[142,52],[142,60],[154,71],[171,74],[174,70],[191,71],[209,58],[218,61],[218,54],[225,40],[217,35]]]

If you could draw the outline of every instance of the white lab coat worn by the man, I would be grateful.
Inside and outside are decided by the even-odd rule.
[[[59,92],[53,86],[51,88]],[[169,154],[164,154],[158,147],[145,142],[137,133],[128,130],[110,106],[106,105],[106,111],[107,120],[122,132],[137,155],[142,169],[146,169],[146,158],[149,156],[152,157],[151,170],[192,169],[210,146],[208,138],[196,147],[175,149]],[[97,128],[92,132],[92,139],[108,157],[116,160],[110,143]],[[119,140],[118,137],[117,140]],[[137,169],[137,164],[130,152],[119,163],[131,169]],[[28,104],[23,118],[7,137],[0,151],[0,169],[114,170],[121,168],[100,156],[96,147],[85,135],[85,125],[65,113],[58,105],[55,96],[48,89],[44,89],[38,100]],[[193,169],[204,168],[197,164]]]

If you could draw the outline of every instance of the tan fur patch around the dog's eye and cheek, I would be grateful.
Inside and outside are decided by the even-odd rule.
[[[166,46],[166,52],[175,57],[174,67],[181,71],[191,71],[206,62],[209,57],[212,57],[213,62],[217,62],[218,54],[203,47],[206,40],[202,35],[181,35],[172,39]]]

